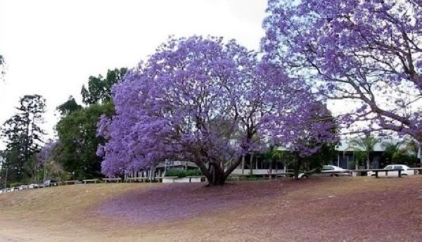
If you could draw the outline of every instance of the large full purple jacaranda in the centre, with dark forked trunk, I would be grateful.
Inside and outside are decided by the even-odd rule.
[[[113,87],[116,115],[98,124],[102,171],[191,160],[210,185],[224,184],[245,153],[298,138],[315,102],[303,83],[234,41],[170,39]]]

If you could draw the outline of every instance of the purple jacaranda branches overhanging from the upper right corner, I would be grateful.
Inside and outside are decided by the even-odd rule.
[[[268,3],[267,60],[328,98],[353,101],[345,127],[360,123],[363,132],[384,129],[422,141],[422,1]]]

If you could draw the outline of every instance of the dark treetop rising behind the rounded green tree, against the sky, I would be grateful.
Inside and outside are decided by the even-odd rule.
[[[82,102],[90,105],[110,101],[113,84],[122,79],[126,72],[126,68],[116,68],[115,70],[108,70],[106,78],[102,75],[98,75],[98,77],[89,77],[88,89],[85,86],[82,86]]]

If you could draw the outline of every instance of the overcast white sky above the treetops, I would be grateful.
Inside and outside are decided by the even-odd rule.
[[[52,135],[56,106],[70,95],[80,100],[90,75],[134,67],[170,34],[211,34],[257,49],[266,6],[267,0],[0,0],[0,54],[7,62],[0,123],[20,96],[41,94]]]

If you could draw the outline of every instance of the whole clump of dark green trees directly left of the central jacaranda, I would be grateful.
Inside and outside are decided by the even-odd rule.
[[[99,117],[110,117],[115,112],[111,100],[111,89],[124,74],[126,68],[108,70],[106,77],[89,77],[88,87],[82,86],[82,101],[89,105],[80,106],[75,98],[57,107],[61,120],[56,125],[59,144],[53,152],[53,160],[46,164],[47,173],[60,179],[84,179],[101,177],[101,158],[96,155],[98,144],[103,143],[96,136]]]

